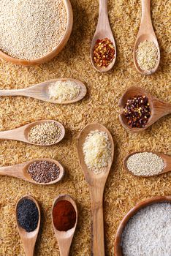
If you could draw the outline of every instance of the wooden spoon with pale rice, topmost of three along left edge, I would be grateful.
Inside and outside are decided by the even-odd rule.
[[[26,96],[55,104],[69,104],[85,97],[86,86],[80,80],[58,78],[26,89],[0,90],[0,96]]]

